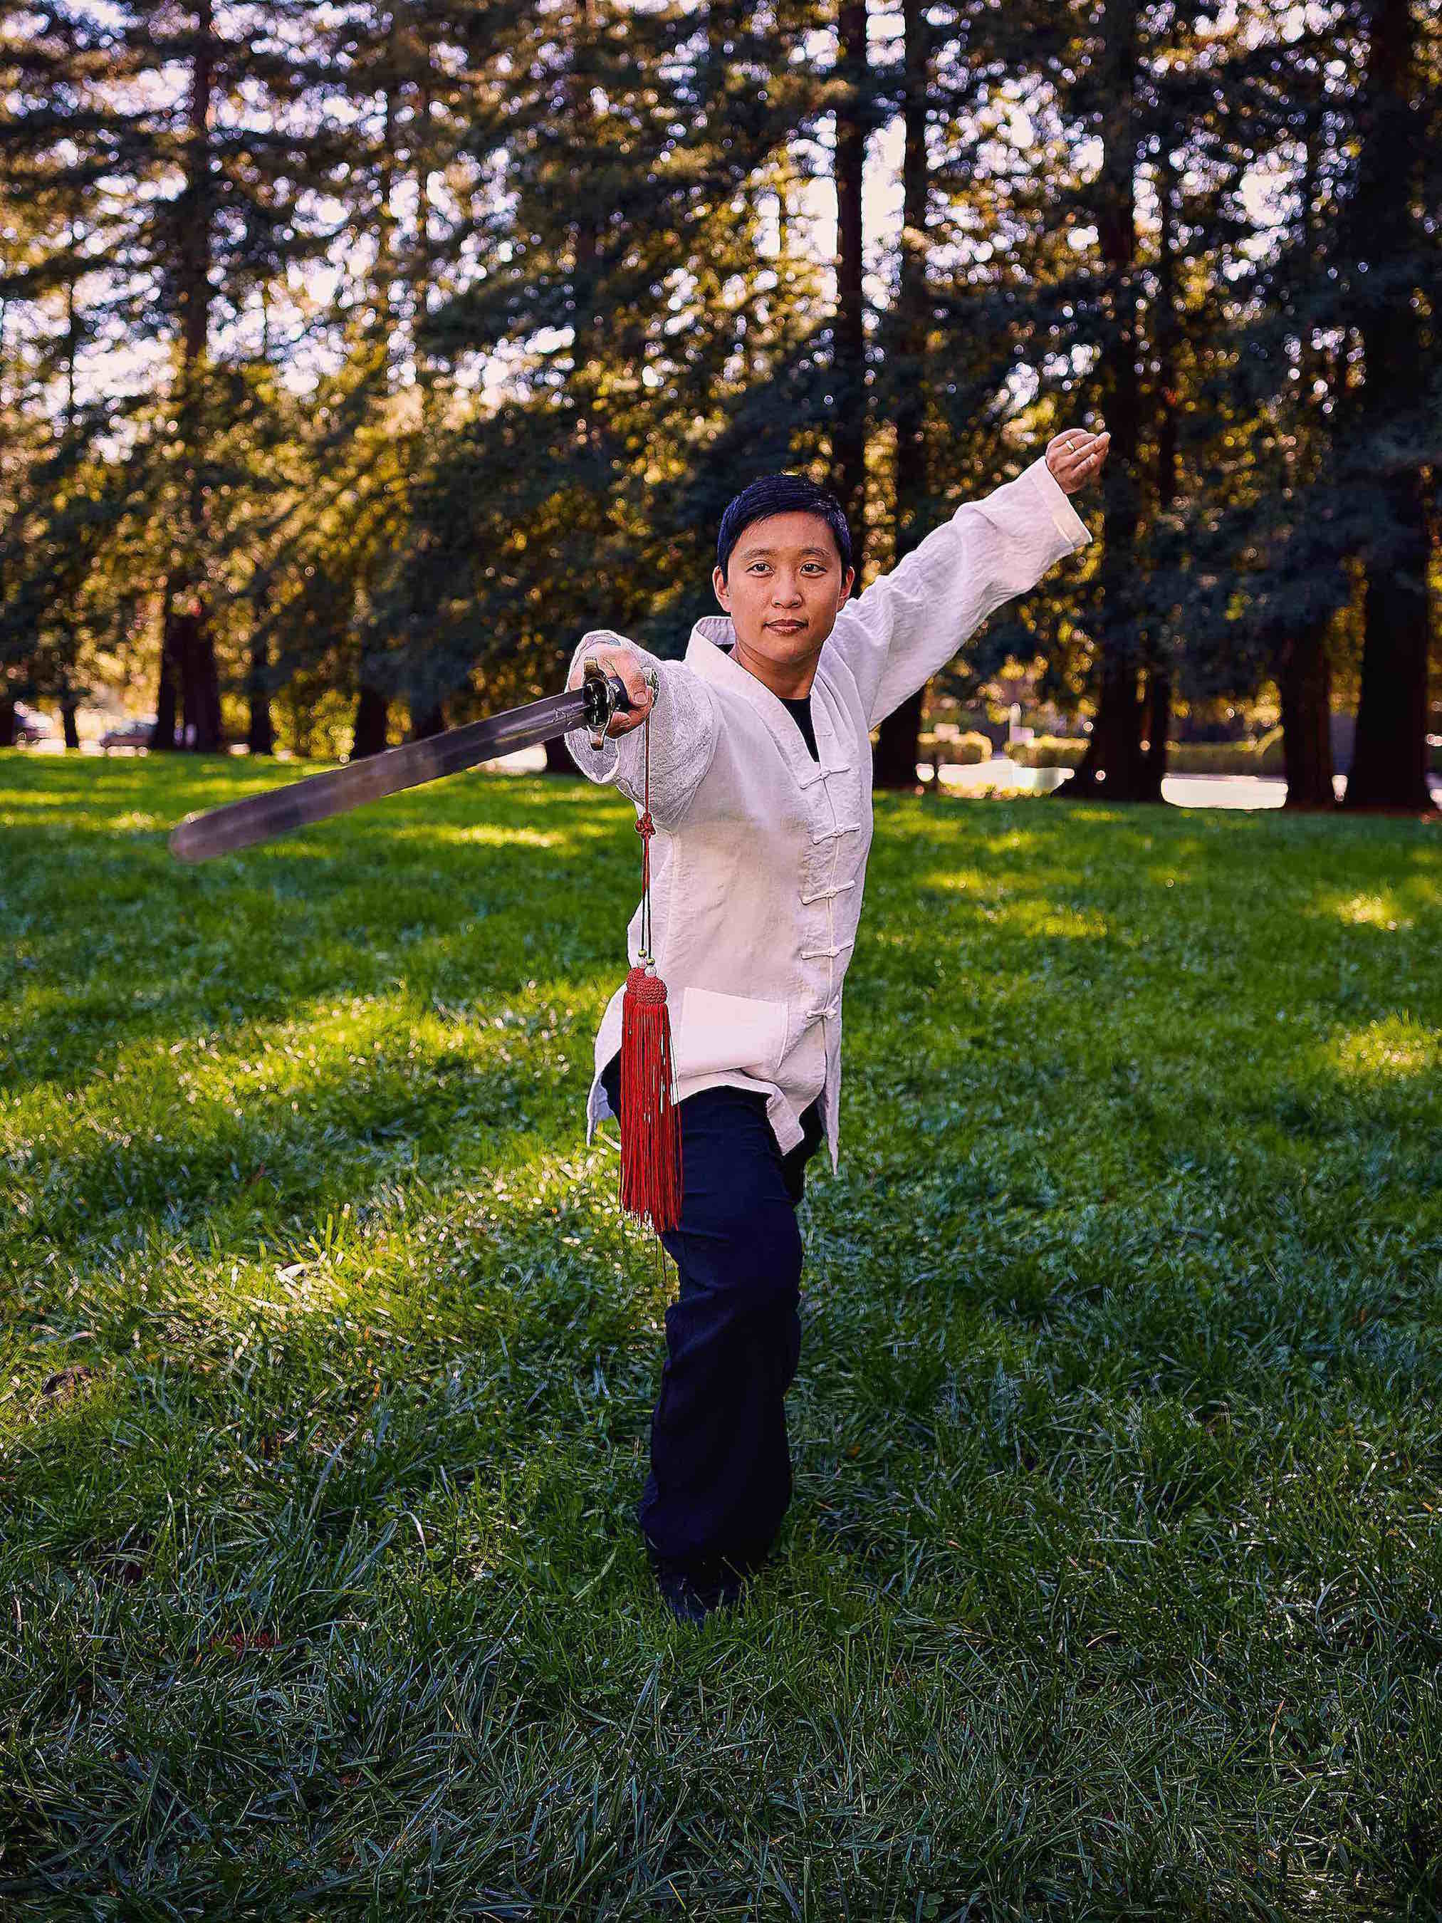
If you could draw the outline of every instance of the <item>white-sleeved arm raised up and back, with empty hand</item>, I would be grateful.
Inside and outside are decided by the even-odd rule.
[[[1107,435],[1056,435],[1015,481],[963,502],[836,615],[834,646],[877,727],[925,687],[961,642],[1092,537],[1067,494],[1106,460]]]

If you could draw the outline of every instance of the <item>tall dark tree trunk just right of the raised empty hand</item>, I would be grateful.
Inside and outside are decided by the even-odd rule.
[[[1140,440],[1138,281],[1136,260],[1136,0],[1107,0],[1102,21],[1106,100],[1102,171],[1096,183],[1096,227],[1107,269],[1109,329],[1100,365],[1109,373],[1104,410],[1111,456],[1102,469],[1106,533],[1102,540],[1098,619],[1102,623],[1102,690],[1086,754],[1071,781],[1054,794],[1063,800],[1134,802],[1144,794],[1142,713],[1136,677],[1146,665],[1134,617],[1136,448]]]

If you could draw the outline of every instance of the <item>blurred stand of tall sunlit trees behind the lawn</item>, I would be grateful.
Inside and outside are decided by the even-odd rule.
[[[52,0],[0,69],[0,744],[104,694],[377,752],[586,627],[681,654],[758,473],[842,496],[863,585],[1106,419],[1092,544],[877,783],[1021,677],[1090,723],[1061,794],[1259,700],[1294,806],[1427,806],[1419,0]]]

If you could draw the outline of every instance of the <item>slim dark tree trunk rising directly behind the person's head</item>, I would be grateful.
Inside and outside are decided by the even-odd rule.
[[[865,308],[861,304],[861,177],[867,152],[867,8],[842,0],[836,108],[836,313],[833,317],[833,431],[836,494],[852,529],[852,565],[861,583],[867,488]]]

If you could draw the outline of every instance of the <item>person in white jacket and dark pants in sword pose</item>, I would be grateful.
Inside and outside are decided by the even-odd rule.
[[[1069,502],[1107,454],[1069,429],[1015,481],[963,502],[856,600],[846,515],[802,475],[731,502],[721,615],[684,660],[609,629],[586,658],[633,702],[577,767],[640,812],[650,717],[652,954],[671,1008],[683,1129],[681,1279],[636,1521],[661,1592],[700,1619],[740,1594],[790,1504],[784,1392],[800,1358],[804,1163],[840,1142],[842,981],[871,846],[871,729],[1002,602],[1090,540]],[[640,954],[640,906],[627,931]],[[586,1140],[619,1113],[621,996],[594,1042]]]

